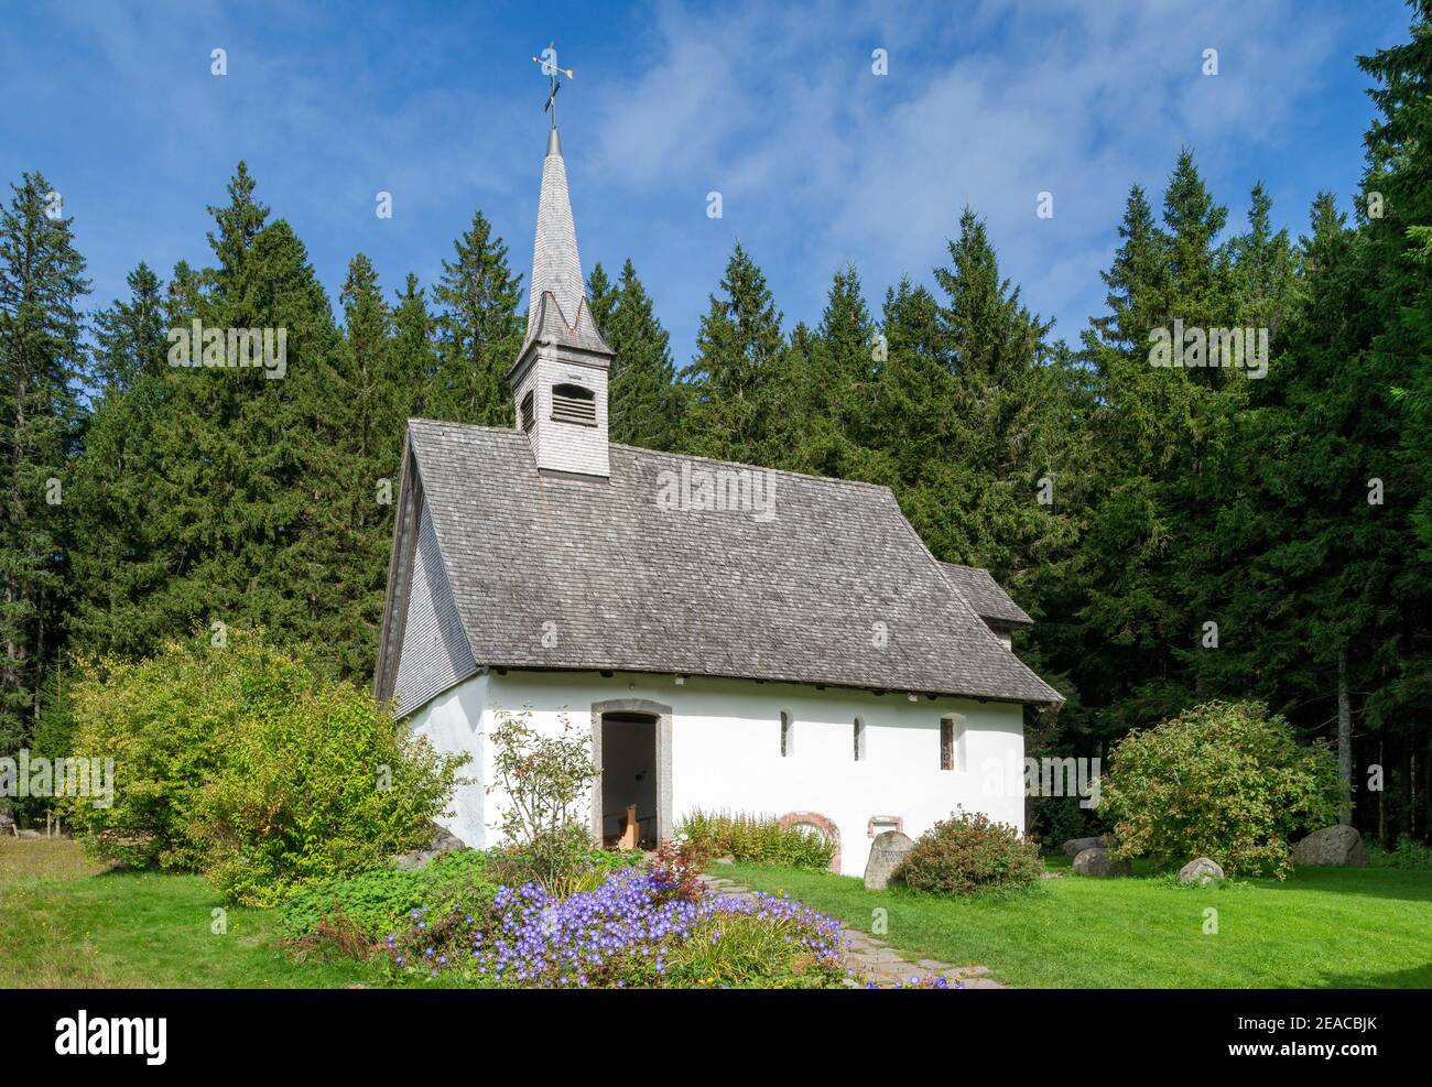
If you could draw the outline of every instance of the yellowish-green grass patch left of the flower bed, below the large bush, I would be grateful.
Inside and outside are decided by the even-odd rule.
[[[377,984],[367,964],[306,962],[276,911],[226,911],[199,876],[109,872],[69,839],[0,838],[0,988],[329,988]]]

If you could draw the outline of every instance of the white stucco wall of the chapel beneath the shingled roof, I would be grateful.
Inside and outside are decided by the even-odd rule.
[[[869,854],[872,816],[904,819],[912,838],[957,805],[1024,829],[1022,710],[969,699],[876,696],[871,692],[816,690],[788,683],[755,683],[617,673],[490,673],[438,696],[412,718],[412,726],[441,750],[473,750],[468,775],[488,765],[485,733],[501,710],[530,709],[533,722],[557,730],[566,712],[590,733],[591,705],[649,699],[672,707],[672,809],[679,822],[693,808],[732,812],[816,812],[841,834],[841,871],[859,875]],[[795,722],[793,750],[780,756],[780,712]],[[955,770],[939,768],[939,720],[964,719],[962,758]],[[865,722],[865,758],[853,756],[852,729]],[[463,789],[447,821],[468,845],[498,841],[500,793],[481,785]]]

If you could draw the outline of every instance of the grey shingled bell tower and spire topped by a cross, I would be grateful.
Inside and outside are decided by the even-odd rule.
[[[536,60],[537,57],[533,57]],[[577,228],[567,196],[567,165],[557,136],[556,57],[543,62],[553,79],[547,107],[547,156],[537,202],[537,239],[528,285],[527,338],[507,375],[517,400],[517,427],[527,434],[538,473],[609,475],[607,375],[611,348],[587,305],[577,256]],[[570,77],[570,73],[564,73]]]

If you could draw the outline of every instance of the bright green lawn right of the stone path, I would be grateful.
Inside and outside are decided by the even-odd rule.
[[[1432,872],[1300,868],[1285,882],[1181,886],[1136,868],[1123,879],[1045,879],[1012,898],[866,891],[859,879],[795,868],[723,865],[722,875],[782,891],[881,935],[912,958],[982,964],[1038,988],[1432,988]],[[1204,934],[1204,911],[1217,934]]]

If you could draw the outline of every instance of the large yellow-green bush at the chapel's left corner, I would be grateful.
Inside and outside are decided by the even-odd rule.
[[[437,755],[367,690],[261,633],[226,642],[86,667],[76,753],[113,758],[116,778],[113,806],[69,808],[92,852],[198,869],[229,901],[272,905],[425,845],[465,758]]]

